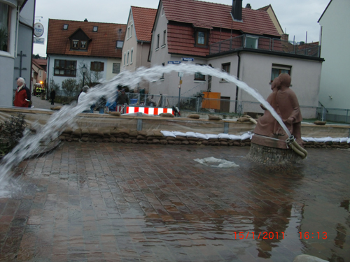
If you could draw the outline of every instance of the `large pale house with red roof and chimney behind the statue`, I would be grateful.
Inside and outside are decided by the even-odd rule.
[[[151,65],[184,63],[210,65],[235,75],[258,90],[265,99],[270,83],[281,72],[292,77],[293,90],[300,105],[318,105],[318,92],[323,59],[319,46],[290,48],[271,6],[254,10],[242,8],[242,0],[232,6],[194,0],[160,0],[152,31],[149,59]],[[315,52],[316,50],[316,52]],[[186,73],[186,72],[185,72]],[[210,75],[184,75],[181,96],[197,92],[220,93],[229,101],[256,101],[232,82]],[[175,83],[175,84],[174,84]],[[178,73],[160,76],[150,84],[150,93],[178,96]],[[225,103],[225,112],[235,112],[237,104]],[[258,105],[244,111],[262,111]],[[309,117],[314,117],[314,112]],[[308,113],[304,114],[305,116]]]

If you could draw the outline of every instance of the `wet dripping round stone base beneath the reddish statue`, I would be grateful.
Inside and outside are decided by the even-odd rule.
[[[283,166],[288,164],[300,164],[302,158],[293,150],[281,149],[276,147],[267,147],[265,145],[258,145],[251,143],[251,149],[247,158],[255,163],[261,163],[267,166]]]

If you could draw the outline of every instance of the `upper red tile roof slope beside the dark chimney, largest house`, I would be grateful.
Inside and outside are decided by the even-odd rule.
[[[264,10],[242,8],[243,22],[233,21],[232,6],[195,0],[162,0],[169,21],[194,24],[204,28],[241,30],[245,34],[280,36]]]

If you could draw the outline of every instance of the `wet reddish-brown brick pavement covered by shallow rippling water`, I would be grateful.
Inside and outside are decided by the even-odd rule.
[[[0,198],[0,261],[350,261],[350,152],[277,170],[248,150],[64,143],[23,161],[22,190]]]

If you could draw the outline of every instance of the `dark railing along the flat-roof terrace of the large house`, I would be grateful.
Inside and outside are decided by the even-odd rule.
[[[243,48],[282,52],[286,54],[299,54],[307,57],[320,57],[321,50],[320,45],[312,43],[295,43],[293,41],[277,38],[255,37],[244,34],[209,45],[209,54],[220,54],[223,52],[242,50]]]

